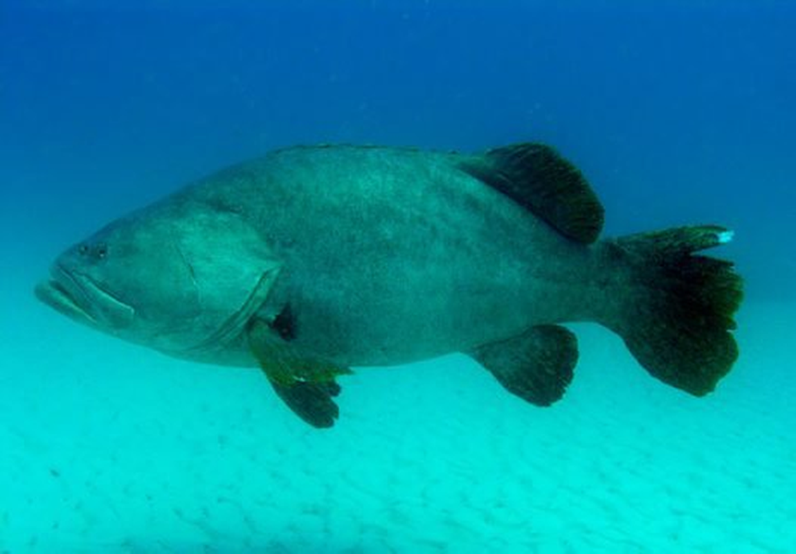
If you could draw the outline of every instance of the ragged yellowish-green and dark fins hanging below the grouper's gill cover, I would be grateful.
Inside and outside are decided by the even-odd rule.
[[[248,341],[260,368],[287,407],[313,427],[332,427],[340,414],[332,400],[341,391],[335,378],[351,370],[298,352],[275,335],[272,324],[259,319],[249,326]]]

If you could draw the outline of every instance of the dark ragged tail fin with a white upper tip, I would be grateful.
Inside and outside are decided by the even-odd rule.
[[[731,239],[704,225],[604,243],[611,264],[630,268],[605,323],[653,376],[696,396],[711,392],[738,357],[731,331],[742,280],[731,262],[695,254]]]

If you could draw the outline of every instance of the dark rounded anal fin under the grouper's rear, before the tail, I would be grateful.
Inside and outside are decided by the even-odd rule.
[[[541,325],[517,337],[478,346],[470,356],[513,395],[549,406],[564,396],[572,382],[578,344],[564,327]]]

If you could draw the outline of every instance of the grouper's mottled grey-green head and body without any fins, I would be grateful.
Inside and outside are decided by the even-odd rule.
[[[607,280],[622,278],[600,261],[600,244],[564,238],[460,170],[463,159],[318,146],[232,166],[60,256],[56,267],[70,274],[61,286],[81,283],[70,291],[80,309],[60,309],[223,365],[257,365],[246,323],[286,304],[291,345],[343,366],[598,319],[611,303]]]

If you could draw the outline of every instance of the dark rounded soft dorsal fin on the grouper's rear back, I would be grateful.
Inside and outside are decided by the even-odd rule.
[[[576,166],[550,146],[502,146],[470,158],[462,169],[572,240],[594,242],[603,229],[604,210],[597,195]]]

